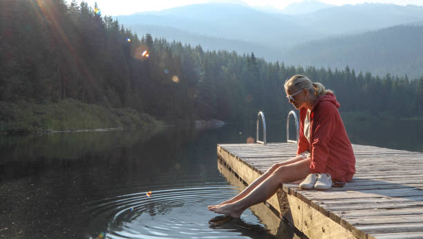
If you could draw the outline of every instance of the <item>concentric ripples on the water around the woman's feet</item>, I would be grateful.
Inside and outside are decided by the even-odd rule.
[[[238,193],[235,187],[207,184],[113,195],[86,205],[91,238],[234,238],[245,231],[263,231],[247,210],[240,220],[211,227],[218,214],[207,210]]]

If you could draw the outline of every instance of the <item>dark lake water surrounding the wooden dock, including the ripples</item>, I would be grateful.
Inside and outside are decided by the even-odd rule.
[[[345,123],[354,144],[423,151],[421,121]],[[239,190],[216,144],[248,137],[255,124],[0,136],[0,238],[298,237],[254,210],[209,224],[207,205]],[[267,142],[285,140],[285,122],[268,122]]]

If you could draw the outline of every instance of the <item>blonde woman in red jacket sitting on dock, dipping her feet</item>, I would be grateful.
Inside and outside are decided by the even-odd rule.
[[[309,174],[328,173],[338,182],[350,182],[353,178],[353,148],[332,91],[312,83],[306,76],[294,75],[285,82],[285,93],[300,110],[297,156],[272,165],[234,198],[209,206],[210,211],[239,218],[248,207],[270,198],[281,183],[300,181]]]

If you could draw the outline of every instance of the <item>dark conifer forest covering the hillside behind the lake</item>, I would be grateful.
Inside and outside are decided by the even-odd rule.
[[[98,106],[111,112],[110,117],[142,115],[146,122],[169,124],[242,122],[255,120],[258,111],[277,120],[292,109],[283,89],[285,79],[299,73],[335,90],[341,111],[423,116],[423,76],[377,76],[348,66],[286,66],[257,58],[254,52],[238,55],[138,36],[84,2],[0,1],[0,32],[3,131],[21,119],[21,106],[31,106],[26,107],[31,111],[62,102],[71,102],[70,114]],[[48,111],[32,111],[28,117]],[[46,122],[32,129],[46,128]],[[114,122],[126,126],[126,120]]]

